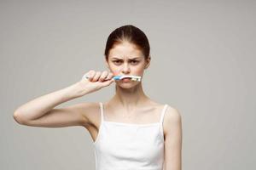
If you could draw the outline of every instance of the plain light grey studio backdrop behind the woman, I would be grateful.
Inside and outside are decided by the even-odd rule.
[[[95,168],[84,127],[27,127],[15,109],[107,70],[119,26],[148,36],[148,96],[181,112],[183,170],[255,169],[255,1],[1,1],[0,169]],[[107,101],[114,83],[79,102]]]

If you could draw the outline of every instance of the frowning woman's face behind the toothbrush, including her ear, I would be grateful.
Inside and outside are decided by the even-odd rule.
[[[106,61],[108,69],[113,76],[131,75],[143,77],[144,69],[148,68],[150,58],[146,60],[141,50],[136,48],[131,42],[122,42],[114,45],[109,50],[108,61]],[[119,85],[131,87],[139,82],[121,80],[116,81]]]

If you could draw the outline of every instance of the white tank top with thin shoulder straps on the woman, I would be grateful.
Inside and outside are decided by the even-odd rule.
[[[103,104],[99,104],[102,122],[93,142],[96,170],[163,170],[162,122],[167,105],[159,122],[132,124],[104,121]]]

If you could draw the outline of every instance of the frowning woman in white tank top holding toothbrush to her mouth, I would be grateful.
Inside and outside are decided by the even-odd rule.
[[[96,169],[181,170],[182,121],[177,109],[149,99],[142,81],[113,80],[117,75],[143,77],[150,64],[149,43],[136,26],[121,26],[108,37],[109,71],[90,70],[88,79],[21,105],[15,121],[33,127],[85,127],[93,139]],[[116,83],[107,102],[55,108]]]

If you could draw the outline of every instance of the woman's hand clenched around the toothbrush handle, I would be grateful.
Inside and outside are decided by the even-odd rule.
[[[84,75],[89,76],[89,78],[83,78],[79,82],[79,94],[90,94],[95,92],[101,88],[109,86],[112,82],[114,82],[113,73],[108,71],[94,71],[90,70],[86,72]]]

